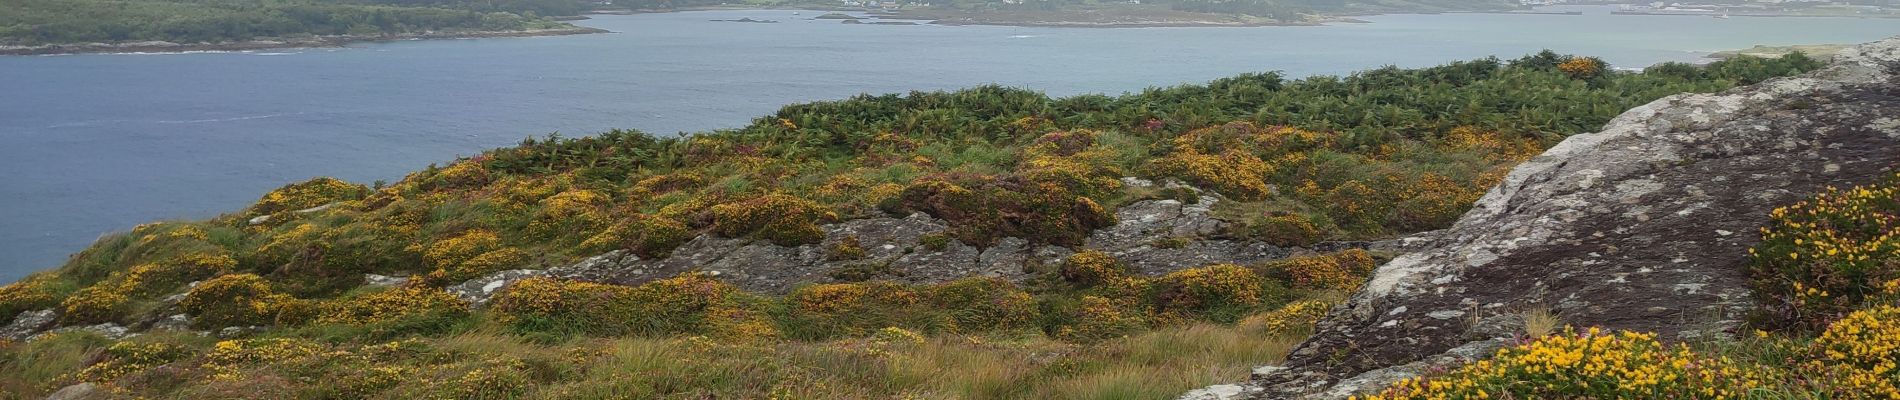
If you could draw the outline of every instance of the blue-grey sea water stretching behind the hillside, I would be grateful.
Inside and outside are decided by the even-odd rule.
[[[397,180],[528,135],[739,127],[788,102],[1003,83],[1123,93],[1539,49],[1615,66],[1847,44],[1894,19],[1379,15],[1260,28],[891,27],[817,11],[602,15],[614,34],[182,55],[0,57],[0,282],[103,233],[207,218],[310,176]],[[781,23],[716,23],[711,19]]]

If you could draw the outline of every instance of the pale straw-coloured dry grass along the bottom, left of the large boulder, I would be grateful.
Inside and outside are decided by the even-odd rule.
[[[1174,398],[1246,379],[1300,337],[1233,326],[1163,328],[1096,345],[933,337],[733,345],[612,339],[572,383],[536,398]]]

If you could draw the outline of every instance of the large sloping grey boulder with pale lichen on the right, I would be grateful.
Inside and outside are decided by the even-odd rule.
[[[1727,336],[1752,305],[1744,256],[1769,210],[1900,167],[1894,74],[1900,38],[1805,76],[1666,97],[1571,136],[1381,265],[1243,392],[1376,391],[1482,356],[1531,307],[1666,339]]]

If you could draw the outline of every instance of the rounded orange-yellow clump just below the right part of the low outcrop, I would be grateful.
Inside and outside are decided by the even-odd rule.
[[[1262,284],[1264,279],[1254,269],[1218,264],[1163,275],[1151,290],[1159,315],[1233,322],[1239,313],[1258,307],[1269,296]]]

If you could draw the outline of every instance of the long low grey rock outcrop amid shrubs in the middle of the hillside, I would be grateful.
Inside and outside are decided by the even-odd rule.
[[[1258,241],[1222,239],[1227,222],[1210,214],[1210,207],[1218,201],[1206,195],[1195,203],[1174,199],[1130,203],[1115,212],[1119,220],[1115,226],[1094,231],[1081,248],[1115,254],[1148,275],[1208,264],[1254,264],[1288,254]],[[745,290],[783,294],[806,282],[834,282],[842,275],[899,282],[944,282],[963,277],[1024,281],[1032,275],[1030,267],[1074,254],[1074,248],[1037,246],[1016,237],[998,239],[986,248],[956,241],[931,248],[923,237],[948,231],[948,226],[922,212],[904,218],[847,220],[826,224],[823,229],[825,241],[819,245],[777,246],[766,241],[701,235],[661,260],[608,252],[549,269],[549,275],[640,284],[697,269],[716,273]],[[863,256],[842,260],[826,250],[847,239],[857,241]],[[1178,241],[1161,245],[1157,239]]]

